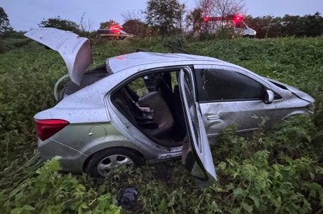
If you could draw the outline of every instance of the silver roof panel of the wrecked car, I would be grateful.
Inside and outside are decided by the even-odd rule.
[[[135,66],[145,64],[154,64],[160,62],[183,62],[183,61],[212,61],[222,62],[213,57],[204,57],[198,55],[187,55],[180,53],[158,53],[158,52],[133,52],[131,54],[120,55],[107,59],[107,69],[112,73],[117,73]]]

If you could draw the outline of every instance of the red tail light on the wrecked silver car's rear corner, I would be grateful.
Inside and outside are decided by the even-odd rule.
[[[36,133],[41,141],[45,141],[58,131],[64,129],[70,122],[66,120],[53,119],[53,120],[37,120],[36,122]]]

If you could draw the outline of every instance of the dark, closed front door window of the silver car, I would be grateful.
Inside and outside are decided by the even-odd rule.
[[[199,101],[263,99],[263,85],[227,69],[197,69]]]

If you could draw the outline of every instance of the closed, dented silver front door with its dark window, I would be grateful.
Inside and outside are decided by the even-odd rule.
[[[246,132],[258,129],[266,117],[267,124],[281,119],[277,101],[263,102],[263,92],[271,87],[261,76],[229,66],[195,66],[195,75],[210,141],[230,124],[237,124],[237,132]]]

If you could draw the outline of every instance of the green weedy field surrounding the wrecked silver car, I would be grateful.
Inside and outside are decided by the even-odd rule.
[[[322,212],[323,37],[179,41],[194,54],[308,92],[315,115],[291,117],[249,138],[228,127],[213,148],[218,182],[211,187],[197,187],[180,160],[118,169],[106,179],[58,173],[57,159],[44,164],[39,158],[32,117],[55,105],[53,85],[67,69],[58,53],[24,41],[0,54],[0,213]],[[178,41],[94,44],[92,66],[137,48],[169,52],[166,43]],[[140,197],[133,208],[120,210],[115,202],[126,185],[138,188]]]

